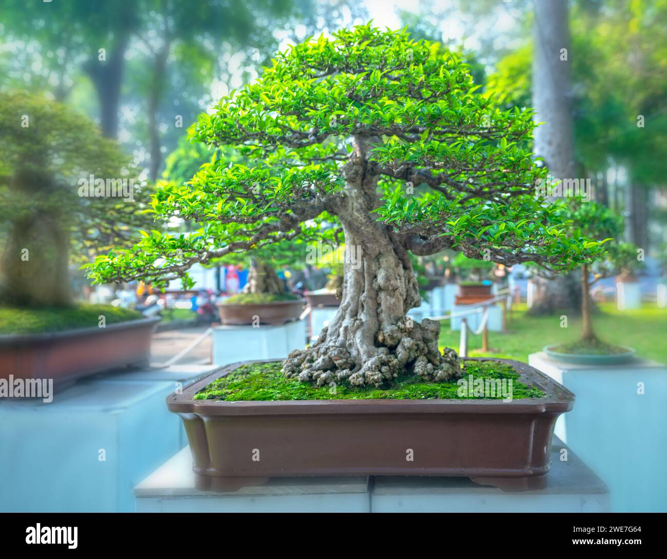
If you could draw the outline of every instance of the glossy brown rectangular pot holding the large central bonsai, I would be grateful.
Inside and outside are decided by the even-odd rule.
[[[556,418],[574,394],[520,362],[521,382],[546,396],[502,400],[193,400],[229,365],[171,394],[195,485],[233,491],[272,476],[468,476],[516,491],[543,488]]]

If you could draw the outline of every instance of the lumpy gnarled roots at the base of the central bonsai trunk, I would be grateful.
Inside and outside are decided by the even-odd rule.
[[[440,323],[403,318],[376,334],[371,347],[344,347],[329,341],[325,328],[317,342],[295,350],[283,361],[287,378],[313,381],[317,386],[348,382],[351,386],[382,387],[400,375],[416,374],[427,381],[460,378],[462,364],[454,350],[438,351]],[[335,338],[332,336],[332,338]]]

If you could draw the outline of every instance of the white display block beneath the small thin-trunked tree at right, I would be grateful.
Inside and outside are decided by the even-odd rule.
[[[609,486],[612,512],[667,512],[665,366],[566,364],[544,352],[528,362],[574,392],[555,432]]]

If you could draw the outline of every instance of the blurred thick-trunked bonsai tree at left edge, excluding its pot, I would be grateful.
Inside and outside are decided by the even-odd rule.
[[[79,179],[135,179],[117,143],[60,103],[0,94],[0,301],[13,306],[71,304],[69,262],[131,245],[141,192],[79,196]],[[129,183],[128,183],[129,184]],[[95,189],[95,185],[91,185]]]

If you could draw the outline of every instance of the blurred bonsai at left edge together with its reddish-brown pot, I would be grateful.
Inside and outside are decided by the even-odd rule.
[[[127,159],[85,117],[24,93],[0,94],[0,141],[0,396],[11,378],[61,389],[145,364],[159,319],[76,304],[69,271],[153,223]]]

